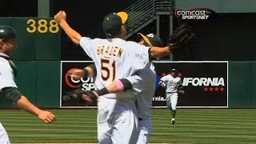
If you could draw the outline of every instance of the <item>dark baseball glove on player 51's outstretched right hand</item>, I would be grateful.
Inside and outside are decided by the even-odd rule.
[[[192,42],[196,42],[196,34],[191,30],[191,26],[182,24],[174,30],[169,39],[169,46],[171,50],[177,50]]]

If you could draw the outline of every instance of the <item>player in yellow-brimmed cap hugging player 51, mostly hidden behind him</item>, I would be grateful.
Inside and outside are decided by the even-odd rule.
[[[142,39],[138,42],[144,46],[162,46],[162,40],[155,34],[147,34],[146,36],[139,33]],[[87,74],[92,75],[94,70],[93,66],[86,66],[82,70],[73,71],[76,77],[88,77]],[[117,83],[113,82],[106,89],[108,93],[119,93],[127,89],[134,89],[136,95],[136,107],[138,110],[138,141],[137,144],[144,144],[149,142],[150,133],[152,130],[151,121],[151,106],[152,98],[154,97],[156,75],[154,71],[154,65],[151,64],[150,68],[139,70],[132,76],[121,79],[122,86],[118,86]],[[130,84],[127,84],[130,83]],[[93,92],[96,97],[99,95],[96,91]]]

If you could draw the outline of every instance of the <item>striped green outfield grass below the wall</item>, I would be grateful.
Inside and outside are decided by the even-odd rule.
[[[97,110],[51,110],[56,122],[47,125],[22,110],[0,110],[0,122],[12,143],[97,142]],[[254,109],[179,109],[170,125],[167,109],[153,110],[150,142],[256,143]]]

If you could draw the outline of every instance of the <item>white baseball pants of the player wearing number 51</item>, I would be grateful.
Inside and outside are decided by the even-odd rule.
[[[138,140],[138,118],[134,99],[121,102],[116,99],[98,100],[99,144],[134,144]]]

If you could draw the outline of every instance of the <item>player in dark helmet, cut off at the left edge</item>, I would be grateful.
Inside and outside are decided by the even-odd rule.
[[[0,95],[6,96],[11,102],[14,102],[19,108],[26,110],[30,114],[36,115],[45,123],[54,121],[54,114],[49,111],[40,110],[22,95],[18,90],[14,77],[17,74],[16,66],[10,58],[15,50],[16,33],[10,26],[0,26]],[[10,143],[6,130],[0,123],[0,143]]]

